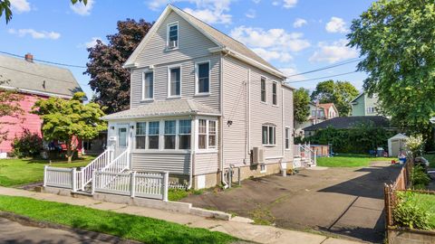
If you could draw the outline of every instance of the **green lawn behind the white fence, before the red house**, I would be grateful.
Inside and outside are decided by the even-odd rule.
[[[93,156],[83,156],[73,163],[53,161],[53,167],[81,167],[89,164]],[[43,165],[49,161],[42,159],[0,159],[0,185],[14,186],[26,183],[43,182]]]

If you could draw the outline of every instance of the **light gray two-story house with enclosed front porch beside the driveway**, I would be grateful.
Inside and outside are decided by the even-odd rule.
[[[245,179],[292,164],[294,89],[241,42],[168,5],[124,68],[131,108],[103,119],[132,170],[198,189],[227,184],[230,167]]]

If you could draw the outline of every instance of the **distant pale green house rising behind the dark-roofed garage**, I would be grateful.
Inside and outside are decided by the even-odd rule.
[[[369,96],[362,92],[358,97],[351,101],[352,116],[377,116],[378,97],[376,94]]]

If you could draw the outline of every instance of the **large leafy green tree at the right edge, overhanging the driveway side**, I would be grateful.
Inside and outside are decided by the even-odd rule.
[[[433,0],[379,0],[353,20],[349,45],[360,50],[364,89],[398,127],[428,135],[435,111]]]

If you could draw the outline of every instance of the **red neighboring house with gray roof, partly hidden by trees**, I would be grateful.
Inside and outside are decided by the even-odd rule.
[[[14,137],[21,136],[24,130],[41,135],[42,120],[30,113],[38,99],[57,97],[71,99],[73,94],[82,91],[70,70],[34,61],[30,53],[25,59],[0,54],[0,89],[15,90],[23,95],[19,102],[24,110],[19,117],[0,117],[2,131],[7,131],[7,139],[0,143],[0,154],[5,157],[12,151]],[[5,122],[8,122],[5,124]]]

